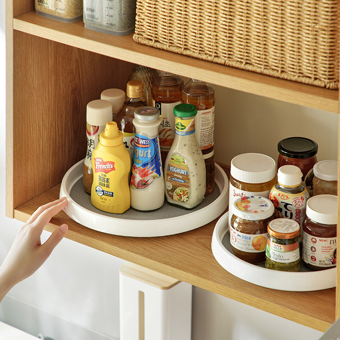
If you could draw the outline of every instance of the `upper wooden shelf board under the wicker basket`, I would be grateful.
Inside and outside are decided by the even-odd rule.
[[[63,23],[30,12],[14,18],[13,28],[129,63],[163,69],[183,77],[339,113],[338,90],[286,81],[137,44],[133,41],[132,34],[120,37],[88,30],[84,28],[82,20]]]

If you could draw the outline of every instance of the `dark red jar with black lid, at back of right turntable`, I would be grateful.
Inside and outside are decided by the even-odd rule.
[[[302,184],[310,193],[313,188],[313,166],[318,162],[318,145],[308,138],[290,137],[278,142],[277,150],[277,169],[288,164],[299,167],[302,172]]]

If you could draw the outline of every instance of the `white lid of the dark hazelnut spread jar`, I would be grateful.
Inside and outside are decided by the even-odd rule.
[[[323,194],[309,198],[306,214],[316,223],[338,224],[338,196]]]

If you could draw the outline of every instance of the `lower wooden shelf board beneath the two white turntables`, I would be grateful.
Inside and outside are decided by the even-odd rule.
[[[59,198],[60,185],[15,210],[26,222],[41,205]],[[121,259],[170,275],[277,316],[324,332],[335,321],[335,289],[310,292],[275,291],[243,281],[224,270],[212,255],[211,236],[217,220],[185,233],[154,238],[104,234],[73,221],[64,211],[47,230],[66,223],[66,237]]]

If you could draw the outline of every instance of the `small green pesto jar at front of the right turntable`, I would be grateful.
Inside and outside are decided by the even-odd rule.
[[[277,218],[268,224],[265,266],[283,272],[300,270],[300,225],[288,218]]]

